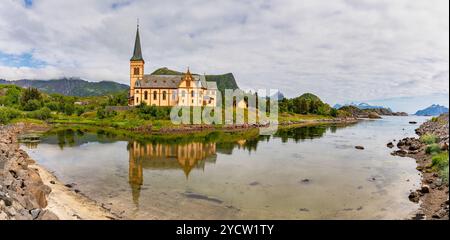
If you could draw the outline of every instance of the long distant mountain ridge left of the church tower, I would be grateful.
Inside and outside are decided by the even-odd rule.
[[[67,96],[101,96],[128,90],[129,86],[110,81],[88,82],[79,78],[53,80],[16,80],[0,79],[0,84],[14,84],[23,88],[34,87],[46,93],[59,93]]]

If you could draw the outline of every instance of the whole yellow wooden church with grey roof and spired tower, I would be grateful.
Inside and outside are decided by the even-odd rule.
[[[207,82],[204,75],[144,74],[139,25],[136,31],[133,57],[130,59],[130,93],[128,104],[154,106],[216,106],[217,84]]]

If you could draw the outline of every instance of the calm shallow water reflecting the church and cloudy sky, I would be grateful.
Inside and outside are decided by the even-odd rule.
[[[422,117],[279,130],[274,136],[163,143],[66,130],[32,158],[134,219],[402,219],[418,208],[416,163],[386,143]],[[362,145],[365,150],[357,150]]]

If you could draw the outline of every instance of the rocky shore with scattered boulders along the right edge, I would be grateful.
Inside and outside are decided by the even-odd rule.
[[[448,151],[449,148],[449,115],[444,114],[423,123],[416,133],[419,136],[436,136],[436,144],[440,151]],[[394,148],[393,142],[387,144]],[[422,186],[411,190],[409,199],[420,204],[420,209],[414,219],[449,219],[448,182],[436,172],[432,166],[432,155],[427,153],[427,144],[418,138],[404,138],[397,142],[397,150],[393,155],[414,158],[417,162],[417,170],[422,175]],[[448,176],[447,176],[448,177]]]

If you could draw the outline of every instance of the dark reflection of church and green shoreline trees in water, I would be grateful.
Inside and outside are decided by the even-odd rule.
[[[123,139],[113,133],[99,130],[96,132],[82,130],[58,130],[41,138],[40,143],[57,144],[61,150],[65,147],[78,147],[90,142],[113,143],[126,141],[129,154],[128,182],[132,189],[133,201],[137,204],[144,183],[144,170],[182,170],[186,179],[194,169],[205,168],[206,163],[215,163],[217,154],[231,155],[234,150],[257,151],[262,142],[271,138],[279,138],[282,142],[302,142],[322,137],[327,131],[334,133],[337,129],[349,126],[327,125],[306,126],[279,129],[273,136],[237,137],[232,141],[221,141],[220,137],[211,142],[187,141],[186,143],[170,143],[167,141],[139,142]],[[232,134],[228,137],[232,137]],[[39,143],[24,143],[29,148],[36,148]]]

